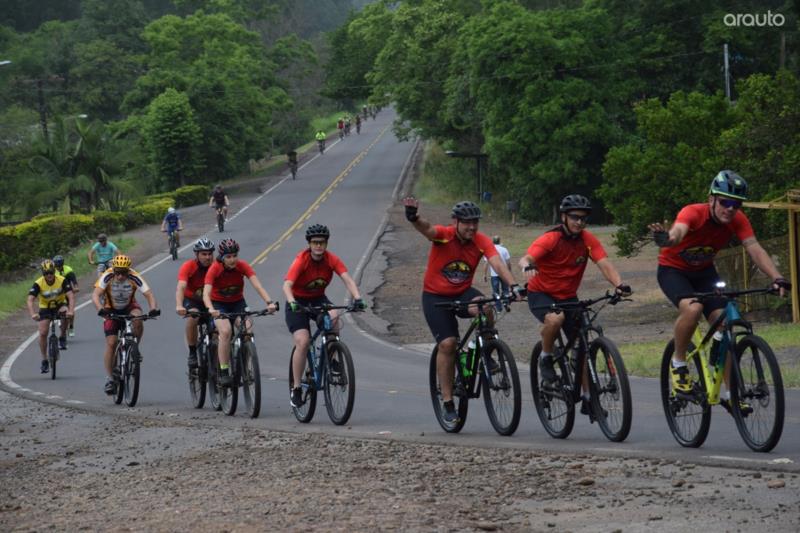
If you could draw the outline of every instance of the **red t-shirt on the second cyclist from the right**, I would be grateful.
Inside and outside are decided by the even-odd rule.
[[[528,280],[528,290],[549,294],[556,300],[578,295],[588,259],[596,263],[608,257],[591,232],[583,230],[578,238],[571,238],[562,226],[533,241],[527,254],[536,265],[536,275]]]

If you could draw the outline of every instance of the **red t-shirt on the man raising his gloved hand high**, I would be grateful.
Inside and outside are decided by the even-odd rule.
[[[439,296],[458,296],[472,286],[475,268],[484,255],[497,255],[497,250],[486,234],[480,231],[467,242],[456,236],[455,226],[434,226],[436,236],[431,239],[431,252],[422,290]]]

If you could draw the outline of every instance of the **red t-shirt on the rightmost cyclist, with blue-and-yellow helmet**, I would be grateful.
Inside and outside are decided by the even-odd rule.
[[[662,248],[658,264],[679,270],[702,270],[714,263],[714,256],[736,235],[740,241],[755,234],[747,216],[736,211],[729,224],[719,224],[711,218],[708,204],[689,204],[678,213],[675,222],[689,226],[689,233],[677,246]]]

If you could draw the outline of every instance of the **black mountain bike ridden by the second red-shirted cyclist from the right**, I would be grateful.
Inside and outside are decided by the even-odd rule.
[[[625,363],[617,346],[603,336],[603,328],[596,324],[597,315],[605,307],[594,310],[592,306],[607,301],[616,305],[627,301],[617,294],[579,302],[552,304],[547,309],[579,314],[576,331],[564,342],[562,333],[556,338],[553,368],[557,379],[545,383],[539,380],[539,357],[542,342],[531,353],[531,392],[536,413],[545,431],[556,439],[565,439],[575,424],[575,405],[582,401],[581,389],[589,390],[589,421],[597,422],[605,437],[612,442],[622,442],[628,437],[633,418],[631,387]],[[608,305],[606,304],[606,305]],[[584,411],[582,406],[581,412]]]

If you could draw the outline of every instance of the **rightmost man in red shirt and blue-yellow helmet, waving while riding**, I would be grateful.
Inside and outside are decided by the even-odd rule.
[[[756,240],[747,216],[742,213],[742,202],[747,199],[747,182],[731,170],[720,171],[708,190],[705,203],[689,204],[678,212],[672,227],[659,223],[648,227],[653,240],[661,248],[658,254],[658,285],[678,308],[675,322],[675,354],[672,358],[672,387],[675,391],[689,393],[693,383],[686,366],[689,341],[700,321],[700,314],[713,323],[725,307],[725,300],[706,299],[704,303],[691,298],[679,299],[692,292],[716,290],[719,274],[714,267],[714,256],[736,237],[744,246],[758,268],[773,280],[773,287],[783,296],[791,284],[781,276],[769,254]],[[725,380],[730,360],[725,365]],[[727,387],[726,387],[727,388]],[[722,405],[730,411],[730,392],[722,394]]]

